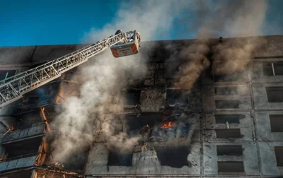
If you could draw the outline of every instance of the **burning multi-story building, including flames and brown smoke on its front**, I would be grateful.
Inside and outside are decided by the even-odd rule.
[[[221,47],[253,39],[144,42],[146,75],[125,77],[104,109],[64,109],[82,95],[79,69],[25,94],[1,108],[0,177],[282,175],[283,37],[258,37],[265,42],[241,60],[233,50],[222,59]],[[75,50],[1,47],[0,80]],[[74,119],[62,125],[64,115],[76,113],[87,124],[68,132]]]

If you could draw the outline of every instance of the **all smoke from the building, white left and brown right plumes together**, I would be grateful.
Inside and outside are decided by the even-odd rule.
[[[112,35],[117,29],[138,30],[143,41],[166,38],[175,18],[180,19],[184,11],[197,14],[194,18],[185,17],[185,25],[189,24],[187,19],[190,21],[190,28],[187,30],[197,30],[197,38],[216,37],[219,32],[224,37],[261,35],[267,8],[265,1],[221,1],[217,5],[213,2],[131,1],[121,4],[111,23],[103,29],[92,29],[85,35],[84,40],[96,42]],[[177,54],[178,57],[185,58],[186,62],[180,66],[180,79],[175,81],[175,85],[192,88],[202,71],[209,66],[209,52],[213,53],[214,73],[242,70],[258,44],[256,38],[237,42],[224,40],[214,46],[207,40],[197,40],[195,44]],[[125,133],[116,131],[119,126],[115,124],[114,113],[123,112],[119,98],[127,80],[140,79],[146,75],[145,61],[146,57],[115,59],[108,50],[80,67],[81,72],[76,77],[83,83],[80,96],[69,97],[63,112],[52,123],[61,132],[52,145],[55,160],[66,160],[70,153],[76,153],[90,146],[93,141],[98,141],[100,135],[103,135],[109,148],[131,150],[137,144],[139,137],[127,138]]]

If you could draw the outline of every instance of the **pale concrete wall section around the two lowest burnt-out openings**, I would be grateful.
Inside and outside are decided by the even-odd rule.
[[[200,174],[200,143],[193,143],[187,155],[187,160],[192,163],[190,167],[184,166],[174,168],[161,166],[155,150],[144,150],[134,152],[132,155],[132,166],[108,166],[109,151],[104,143],[96,143],[88,155],[86,174]]]

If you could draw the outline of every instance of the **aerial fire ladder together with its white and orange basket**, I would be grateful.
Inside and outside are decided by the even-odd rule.
[[[111,47],[114,57],[125,57],[137,54],[139,46],[140,36],[136,30],[129,32],[117,30],[115,35],[83,47],[76,52],[6,78],[0,81],[0,108],[20,99],[25,93],[59,78],[62,73],[83,64],[108,47]]]

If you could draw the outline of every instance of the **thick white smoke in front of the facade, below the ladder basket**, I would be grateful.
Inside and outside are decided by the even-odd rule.
[[[127,73],[132,78],[143,76],[144,62],[134,57],[115,59],[110,52],[99,58],[93,59],[94,64],[81,67],[80,76],[76,77],[83,82],[80,96],[67,98],[63,111],[53,123],[61,132],[53,143],[54,158],[60,162],[70,153],[90,146],[97,134],[103,135],[109,147],[119,150],[128,150],[137,144],[138,138],[115,133],[114,113],[123,112],[119,97],[127,84]]]

